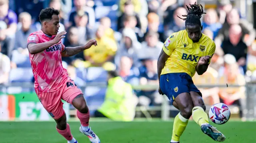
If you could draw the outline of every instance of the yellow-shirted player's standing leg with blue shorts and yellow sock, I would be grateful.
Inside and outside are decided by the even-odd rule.
[[[187,81],[182,73],[164,74],[160,77],[160,88],[168,96],[170,102],[180,113],[174,119],[172,140],[170,143],[179,143],[180,136],[186,129],[188,119],[192,115],[193,102],[189,94]]]

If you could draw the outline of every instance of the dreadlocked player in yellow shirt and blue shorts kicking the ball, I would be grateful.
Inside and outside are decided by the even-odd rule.
[[[179,143],[188,119],[192,115],[201,130],[215,141],[226,137],[209,124],[202,94],[192,81],[197,72],[206,72],[215,52],[215,43],[204,35],[200,18],[205,14],[202,5],[190,4],[186,20],[186,30],[178,31],[168,37],[158,58],[159,93],[165,94],[180,113],[174,119],[172,140]],[[179,17],[180,18],[180,17]]]

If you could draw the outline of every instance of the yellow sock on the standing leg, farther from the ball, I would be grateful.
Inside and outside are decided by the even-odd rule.
[[[183,131],[186,129],[187,125],[188,125],[188,119],[182,117],[179,113],[174,119],[173,130],[172,130],[172,141],[174,142],[180,141],[180,136],[182,135]]]

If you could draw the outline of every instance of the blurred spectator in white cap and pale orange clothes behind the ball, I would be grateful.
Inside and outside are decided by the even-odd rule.
[[[245,107],[245,78],[240,74],[239,66],[236,63],[236,59],[232,55],[224,56],[224,72],[220,74],[219,82],[220,85],[232,84],[240,85],[240,87],[228,87],[220,88],[220,102],[230,105],[239,106],[240,117]]]

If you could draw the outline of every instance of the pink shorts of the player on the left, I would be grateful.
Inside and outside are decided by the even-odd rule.
[[[59,119],[65,114],[61,99],[72,104],[72,100],[76,96],[83,94],[73,80],[68,80],[54,92],[42,92],[39,88],[35,88],[35,90],[40,102],[54,119]]]

